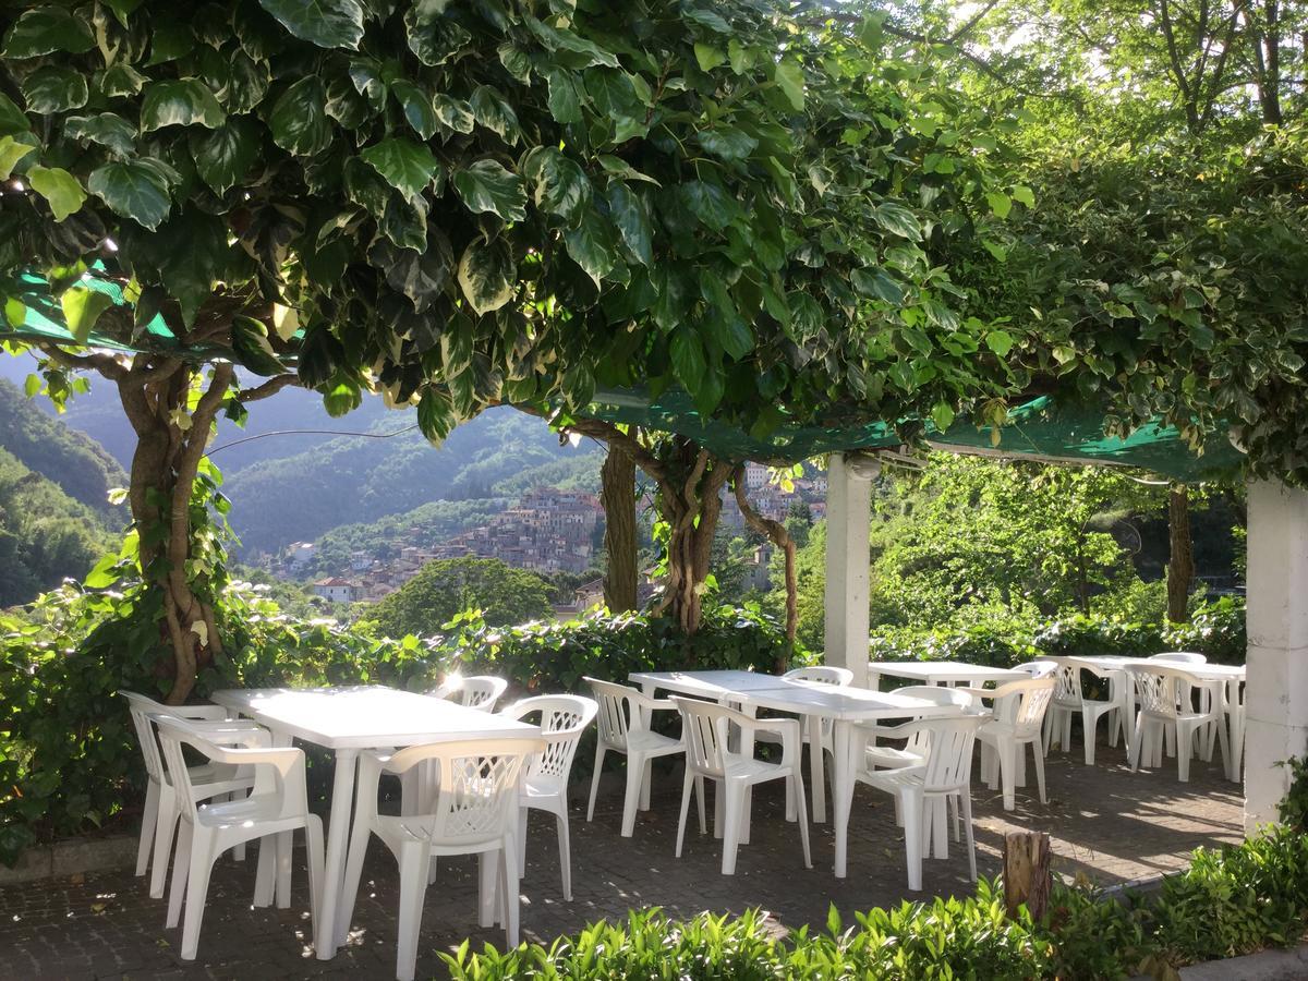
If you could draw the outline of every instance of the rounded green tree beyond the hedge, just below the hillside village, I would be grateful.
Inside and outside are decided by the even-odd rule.
[[[552,615],[549,587],[498,559],[436,559],[364,617],[387,637],[439,633],[456,613],[477,610],[494,627]]]

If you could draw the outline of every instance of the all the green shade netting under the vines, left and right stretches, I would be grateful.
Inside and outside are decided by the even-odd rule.
[[[105,293],[115,306],[126,305],[123,286],[97,264],[82,275],[80,284]],[[64,322],[63,307],[44,277],[21,277],[20,300],[26,306],[24,320],[0,328],[0,339],[77,347]],[[162,317],[156,317],[129,341],[92,331],[86,347],[122,352],[169,353],[190,361],[232,360],[226,348],[183,347]],[[638,425],[695,439],[714,455],[727,460],[798,463],[824,453],[844,450],[883,450],[900,445],[893,426],[879,420],[838,426],[781,426],[756,437],[734,425],[705,419],[684,391],[667,391],[651,399],[640,391],[603,391],[585,413],[608,422]],[[1228,477],[1243,459],[1226,434],[1209,437],[1202,453],[1192,450],[1175,426],[1151,422],[1126,438],[1104,436],[1104,413],[1092,407],[1057,404],[1049,398],[1027,402],[1010,412],[999,429],[998,442],[991,426],[977,428],[959,419],[943,433],[926,425],[927,439],[942,450],[998,456],[1028,456],[1076,463],[1113,464],[1150,470],[1173,480],[1202,483]]]

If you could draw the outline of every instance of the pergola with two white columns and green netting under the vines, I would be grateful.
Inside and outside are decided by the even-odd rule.
[[[112,279],[88,276],[88,285],[123,303]],[[124,343],[92,334],[75,337],[63,322],[47,284],[33,276],[22,300],[27,318],[7,324],[0,340],[98,347],[116,352],[165,351],[198,362],[233,357],[221,349],[184,349],[162,318]],[[286,360],[292,364],[292,353]],[[827,490],[827,633],[828,663],[848,667],[855,683],[869,675],[869,572],[871,480],[876,456],[897,453],[901,439],[882,420],[849,419],[824,426],[782,426],[755,437],[735,426],[705,419],[685,392],[657,399],[640,391],[603,391],[586,415],[611,422],[640,424],[672,432],[734,460],[799,462],[829,454]],[[1176,429],[1156,422],[1124,438],[1105,437],[1103,413],[1093,407],[1069,407],[1046,398],[1032,399],[1010,413],[995,433],[967,419],[940,432],[929,422],[922,433],[934,449],[990,456],[1023,458],[1080,466],[1139,467],[1177,481],[1199,483],[1232,477],[1240,451],[1224,434],[1194,450]],[[1245,831],[1277,819],[1277,804],[1290,785],[1281,760],[1308,751],[1308,490],[1278,480],[1248,485],[1248,681],[1245,685]]]

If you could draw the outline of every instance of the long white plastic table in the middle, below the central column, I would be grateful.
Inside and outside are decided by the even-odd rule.
[[[646,695],[662,689],[735,704],[751,714],[759,709],[772,709],[791,712],[808,719],[814,820],[823,820],[818,814],[818,802],[825,795],[820,725],[824,718],[832,719],[835,763],[832,783],[836,795],[832,820],[836,832],[835,871],[838,879],[845,878],[849,812],[854,802],[854,772],[858,765],[854,759],[857,740],[852,739],[854,725],[892,718],[946,715],[957,710],[952,705],[938,705],[895,692],[786,680],[753,671],[636,671],[629,678],[640,684]],[[742,751],[746,747],[742,747]]]

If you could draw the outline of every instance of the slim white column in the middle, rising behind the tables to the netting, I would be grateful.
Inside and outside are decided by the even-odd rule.
[[[827,663],[867,687],[867,585],[872,484],[833,453],[827,470]]]

